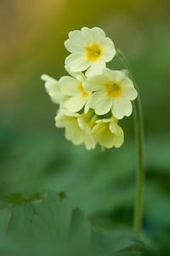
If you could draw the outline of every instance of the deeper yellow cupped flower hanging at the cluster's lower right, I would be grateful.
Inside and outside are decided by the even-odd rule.
[[[113,116],[111,119],[98,119],[96,121],[92,131],[96,143],[105,148],[119,148],[122,146],[124,134],[117,121]]]

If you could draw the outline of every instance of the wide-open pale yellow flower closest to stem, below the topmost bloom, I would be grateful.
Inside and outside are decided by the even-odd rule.
[[[131,101],[137,97],[137,91],[124,72],[104,68],[102,74],[89,77],[84,88],[94,92],[88,108],[94,108],[95,113],[103,115],[111,110],[116,119],[132,113]]]

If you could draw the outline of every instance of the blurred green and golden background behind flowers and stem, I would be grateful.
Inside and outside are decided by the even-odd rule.
[[[122,148],[87,151],[54,127],[42,73],[65,75],[68,32],[99,26],[127,56],[144,113],[143,240],[170,253],[170,2],[0,0],[0,193],[65,191],[94,225],[132,230],[136,150],[133,115]],[[163,254],[165,253],[165,254]]]

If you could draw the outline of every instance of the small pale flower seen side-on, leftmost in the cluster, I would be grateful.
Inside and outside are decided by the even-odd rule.
[[[59,81],[49,77],[47,74],[43,74],[41,79],[45,81],[45,89],[48,92],[52,102],[59,104],[63,99]]]

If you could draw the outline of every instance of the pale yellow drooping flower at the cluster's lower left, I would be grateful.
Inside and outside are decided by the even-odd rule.
[[[55,125],[65,128],[65,137],[75,145],[84,143],[87,149],[95,148],[92,128],[95,120],[92,121],[91,113],[71,113],[60,109],[55,117]]]

